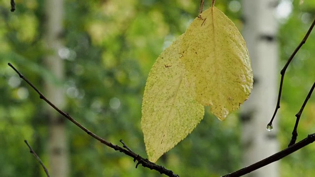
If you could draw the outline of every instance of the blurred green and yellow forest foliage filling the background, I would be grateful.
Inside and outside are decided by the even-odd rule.
[[[234,0],[236,2],[236,0]],[[239,2],[239,1],[237,1]],[[48,166],[45,103],[7,66],[14,64],[40,90],[44,80],[63,85],[65,112],[113,144],[124,142],[146,157],[140,129],[141,101],[146,77],[163,48],[182,34],[198,14],[197,0],[65,0],[65,81],[57,81],[42,66],[47,53],[43,41],[43,0],[0,1],[0,176],[34,177],[44,173],[24,144],[27,139]],[[205,8],[210,6],[206,1]],[[230,0],[216,6],[242,29],[241,9],[231,11]],[[282,67],[315,17],[315,4],[293,1],[293,11],[281,21],[278,35]],[[281,107],[279,141],[285,148],[294,115],[315,80],[315,35],[311,34],[287,70]],[[280,74],[279,74],[280,78]],[[271,115],[272,113],[270,113]],[[299,127],[299,139],[314,133],[315,99],[310,99]],[[266,118],[268,122],[269,118]],[[265,125],[262,125],[265,126]],[[71,176],[158,177],[158,172],[107,148],[67,122]],[[181,177],[221,176],[241,168],[240,135],[236,115],[219,121],[209,113],[178,146],[160,160]],[[285,157],[283,177],[313,176],[315,146]],[[246,153],[246,152],[243,152]]]

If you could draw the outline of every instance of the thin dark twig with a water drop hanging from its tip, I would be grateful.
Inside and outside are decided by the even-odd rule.
[[[274,118],[276,117],[277,111],[280,108],[280,98],[281,98],[281,93],[282,93],[282,87],[283,87],[283,83],[284,83],[284,74],[285,74],[285,70],[288,67],[288,65],[290,64],[290,62],[292,61],[293,57],[295,56],[295,54],[300,50],[300,48],[302,47],[303,44],[305,44],[307,38],[309,37],[312,29],[314,28],[315,25],[315,19],[310,27],[310,29],[307,31],[307,33],[305,34],[303,40],[301,41],[301,43],[296,47],[296,49],[294,50],[294,52],[292,53],[292,55],[290,56],[290,58],[286,61],[284,68],[281,70],[280,74],[281,74],[281,81],[280,81],[280,88],[279,88],[279,95],[278,95],[278,100],[277,100],[277,106],[276,106],[276,110],[274,112],[274,115],[272,116],[270,122],[268,123],[267,126],[272,126],[272,122],[274,120]]]

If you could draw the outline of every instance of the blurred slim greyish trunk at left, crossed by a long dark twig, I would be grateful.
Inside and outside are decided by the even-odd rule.
[[[50,51],[44,59],[44,64],[54,79],[45,80],[45,93],[60,109],[64,107],[63,97],[63,60],[58,51],[63,47],[63,0],[45,1],[45,42]],[[51,107],[47,108],[49,118],[48,154],[50,160],[49,172],[52,177],[68,177],[69,160],[68,144],[63,118]]]

